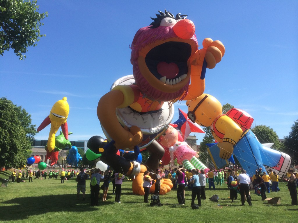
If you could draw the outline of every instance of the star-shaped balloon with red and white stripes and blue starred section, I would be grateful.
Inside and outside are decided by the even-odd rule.
[[[193,123],[187,114],[179,109],[179,119],[173,124],[178,125],[177,129],[181,131],[183,140],[185,141],[191,132],[205,133],[197,123]]]

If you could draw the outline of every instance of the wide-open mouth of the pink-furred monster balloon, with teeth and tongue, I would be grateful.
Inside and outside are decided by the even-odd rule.
[[[190,55],[190,44],[171,41],[151,49],[145,57],[145,62],[157,79],[173,85],[187,77],[187,61]]]

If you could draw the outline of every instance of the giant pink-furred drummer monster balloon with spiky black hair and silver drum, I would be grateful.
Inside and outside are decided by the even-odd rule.
[[[214,68],[224,55],[224,45],[210,38],[198,49],[194,23],[187,15],[168,11],[156,14],[153,22],[138,30],[131,44],[133,77],[117,80],[99,101],[97,115],[105,136],[113,145],[101,160],[114,164],[115,171],[132,175],[139,165],[119,161],[118,149],[146,147],[145,166],[155,172],[164,149],[154,139],[161,136],[173,119],[176,100],[196,98],[205,89],[205,71]],[[110,153],[110,154],[108,154]],[[129,160],[127,160],[129,161]]]

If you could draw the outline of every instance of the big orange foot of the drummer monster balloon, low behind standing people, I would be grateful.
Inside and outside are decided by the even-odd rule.
[[[141,172],[136,176],[136,178],[132,182],[132,191],[133,194],[137,195],[144,195],[144,188],[143,188],[143,178],[144,172],[147,170],[145,165],[141,165]],[[159,194],[166,194],[171,191],[173,188],[173,183],[170,179],[162,179],[160,180],[160,191]],[[155,184],[153,184],[150,188],[150,192],[155,190]]]

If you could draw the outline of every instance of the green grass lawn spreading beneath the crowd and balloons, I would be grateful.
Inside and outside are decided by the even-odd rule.
[[[280,205],[268,205],[261,197],[252,193],[252,206],[246,202],[240,206],[238,200],[231,203],[226,184],[216,186],[216,190],[206,190],[207,200],[202,200],[198,210],[190,208],[191,191],[185,190],[186,205],[178,206],[176,191],[160,196],[163,206],[150,206],[144,197],[133,195],[131,181],[122,185],[121,203],[115,203],[110,183],[107,202],[100,206],[90,206],[89,181],[86,200],[76,200],[74,179],[60,183],[60,179],[34,180],[29,183],[8,183],[0,187],[0,222],[297,222],[297,206],[291,205],[291,198],[285,183],[280,182],[279,192],[271,192],[267,197],[281,197]],[[207,185],[208,187],[208,185]],[[101,191],[102,192],[102,191]],[[218,202],[208,201],[218,194]],[[150,196],[149,196],[150,199]]]

